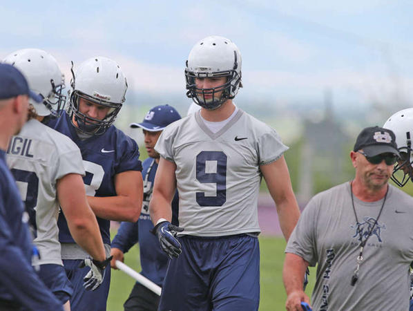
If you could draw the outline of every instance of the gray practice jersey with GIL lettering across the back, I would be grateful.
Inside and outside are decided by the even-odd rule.
[[[79,148],[67,136],[30,120],[12,138],[7,153],[8,166],[25,201],[30,223],[35,227],[40,264],[62,265],[56,182],[68,173],[84,175]]]

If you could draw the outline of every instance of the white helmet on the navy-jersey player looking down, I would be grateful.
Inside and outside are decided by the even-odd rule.
[[[93,57],[81,63],[70,82],[68,113],[73,115],[77,128],[88,134],[101,135],[115,122],[117,113],[125,101],[128,84],[119,65],[106,57]],[[79,111],[79,98],[109,107],[104,120],[88,117]]]

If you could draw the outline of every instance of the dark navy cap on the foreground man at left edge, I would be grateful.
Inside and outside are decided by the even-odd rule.
[[[35,102],[43,101],[39,94],[30,91],[26,78],[15,66],[0,63],[0,100],[19,95],[28,95]]]

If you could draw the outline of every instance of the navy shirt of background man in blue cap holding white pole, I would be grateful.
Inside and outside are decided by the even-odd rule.
[[[112,247],[116,247],[126,253],[139,242],[141,274],[157,285],[162,286],[166,273],[168,256],[162,251],[157,237],[151,234],[153,223],[149,216],[149,201],[152,198],[153,180],[157,164],[153,158],[147,158],[142,163],[142,177],[144,178],[144,202],[140,218],[136,223],[123,222],[113,239]],[[149,171],[149,173],[148,173]],[[178,225],[178,195],[177,192],[172,200],[172,223]]]

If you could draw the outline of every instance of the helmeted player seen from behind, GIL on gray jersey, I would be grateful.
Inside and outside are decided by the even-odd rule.
[[[12,138],[7,162],[30,216],[40,253],[39,276],[69,308],[73,288],[61,261],[59,205],[75,241],[95,262],[104,262],[106,254],[97,220],[86,200],[79,148],[70,138],[41,123],[45,117],[58,115],[63,108],[64,79],[55,58],[44,50],[17,50],[4,62],[19,68],[30,88],[42,98],[41,103],[30,100],[29,120],[19,135]],[[96,277],[100,276],[93,276]]]

